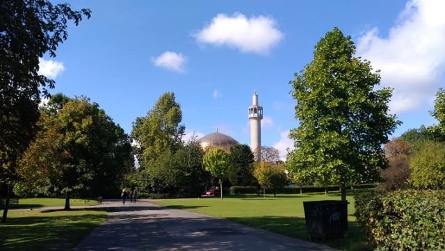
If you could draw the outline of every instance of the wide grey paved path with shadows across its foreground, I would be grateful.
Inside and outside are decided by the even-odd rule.
[[[149,202],[104,202],[111,207],[104,224],[77,247],[81,250],[334,250],[229,220]]]

